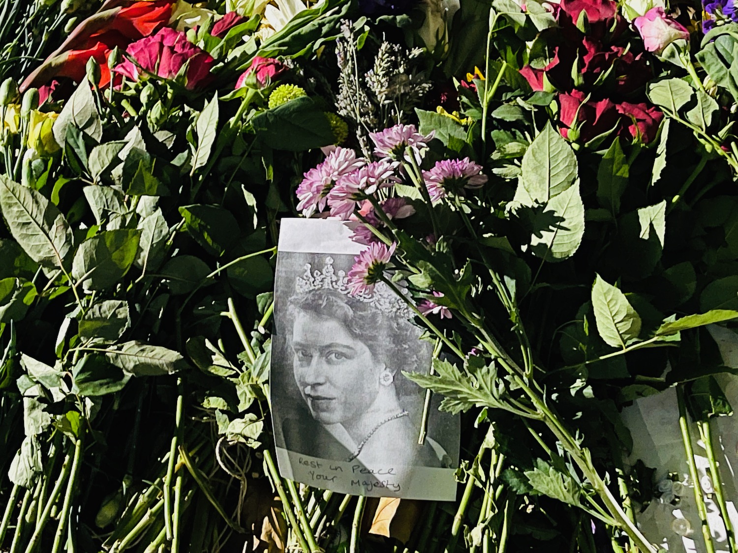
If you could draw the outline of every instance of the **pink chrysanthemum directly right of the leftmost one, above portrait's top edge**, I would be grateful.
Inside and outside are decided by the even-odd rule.
[[[351,218],[356,204],[366,195],[373,194],[380,188],[390,187],[396,182],[399,179],[395,176],[394,168],[386,161],[372,161],[359,167],[359,170],[342,175],[326,197],[331,216],[344,220]]]

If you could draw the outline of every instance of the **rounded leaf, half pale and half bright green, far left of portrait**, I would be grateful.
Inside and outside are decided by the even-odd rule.
[[[86,290],[117,284],[136,258],[141,232],[134,229],[100,232],[77,248],[72,277]]]

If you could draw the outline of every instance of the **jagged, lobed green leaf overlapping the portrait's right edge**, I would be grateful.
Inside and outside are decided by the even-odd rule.
[[[494,366],[470,366],[469,372],[464,373],[448,361],[434,359],[433,369],[436,375],[405,371],[402,374],[419,386],[445,396],[441,402],[442,411],[457,414],[475,406],[505,408],[505,386],[503,380],[497,378]]]

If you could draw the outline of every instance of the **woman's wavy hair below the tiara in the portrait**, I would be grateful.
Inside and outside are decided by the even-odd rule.
[[[385,313],[372,302],[362,302],[331,289],[296,293],[289,299],[287,310],[292,324],[299,311],[336,319],[356,339],[368,347],[373,358],[395,372],[399,396],[421,392],[419,386],[404,378],[401,371],[426,372],[430,366],[430,344],[420,340],[421,331],[407,319]]]

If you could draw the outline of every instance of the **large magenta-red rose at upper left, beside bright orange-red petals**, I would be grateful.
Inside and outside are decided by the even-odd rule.
[[[142,38],[125,50],[136,63],[126,59],[113,71],[131,80],[154,74],[162,79],[174,79],[184,69],[184,87],[193,90],[210,80],[213,56],[187,41],[187,35],[169,27],[156,35]]]

